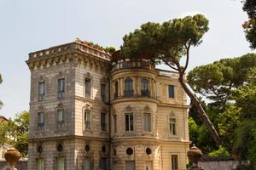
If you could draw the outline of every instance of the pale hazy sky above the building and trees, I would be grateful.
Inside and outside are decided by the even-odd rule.
[[[247,20],[241,7],[240,0],[0,0],[0,115],[29,110],[28,54],[76,37],[119,48],[122,37],[145,22],[200,13],[210,30],[191,49],[189,70],[252,53],[241,27]]]

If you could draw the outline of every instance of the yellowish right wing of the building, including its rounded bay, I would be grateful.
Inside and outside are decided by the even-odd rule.
[[[189,106],[177,77],[150,59],[112,55],[113,169],[186,168]]]

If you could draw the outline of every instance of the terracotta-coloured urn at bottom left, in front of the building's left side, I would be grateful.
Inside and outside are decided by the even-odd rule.
[[[19,150],[12,148],[4,153],[4,158],[10,166],[10,169],[15,169],[15,164],[20,160],[21,154]]]

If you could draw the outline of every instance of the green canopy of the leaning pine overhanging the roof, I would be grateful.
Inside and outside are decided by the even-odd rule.
[[[140,29],[125,35],[121,53],[127,57],[164,61],[176,65],[175,70],[184,71],[179,59],[189,57],[190,46],[201,43],[201,37],[208,31],[208,20],[201,14],[174,19],[163,24],[148,22]]]

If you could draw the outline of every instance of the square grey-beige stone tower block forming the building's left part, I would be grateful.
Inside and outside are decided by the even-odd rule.
[[[110,54],[76,40],[29,54],[28,170],[109,167]]]

